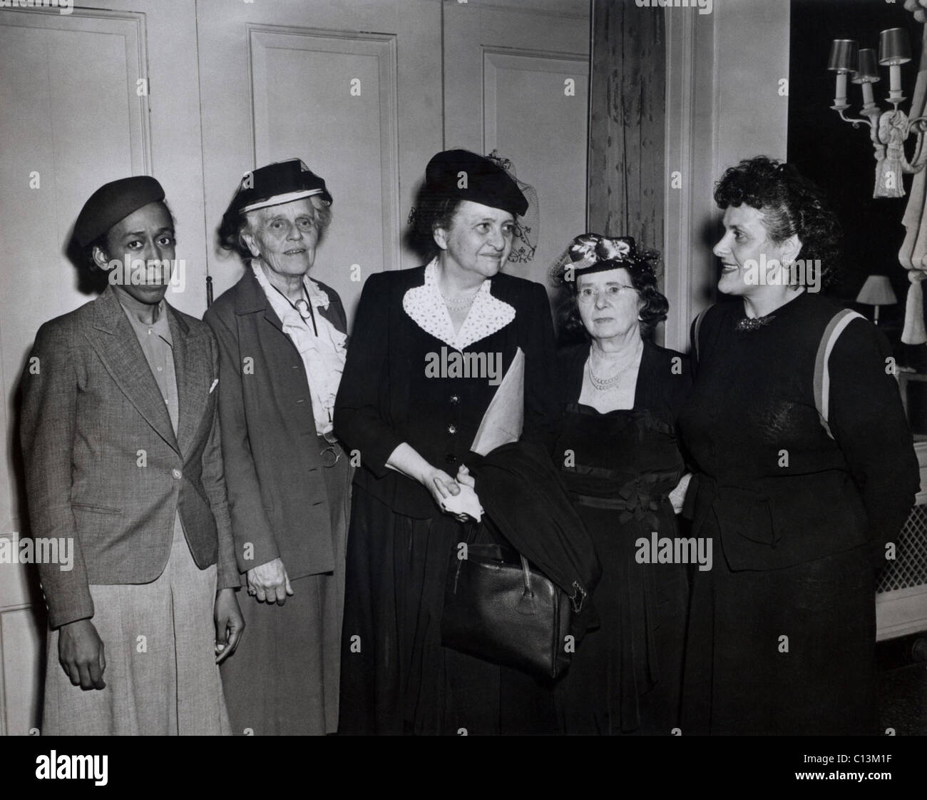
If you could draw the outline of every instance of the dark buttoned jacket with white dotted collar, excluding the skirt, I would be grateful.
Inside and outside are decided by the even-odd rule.
[[[402,308],[406,291],[424,283],[424,266],[367,278],[335,406],[338,436],[361,452],[355,482],[392,510],[419,519],[435,515],[434,500],[423,486],[389,470],[387,458],[406,442],[453,476],[471,458],[470,445],[497,388],[480,379],[426,377],[426,355],[447,345],[419,328]],[[502,354],[504,375],[521,347],[522,437],[550,447],[561,409],[547,292],[538,283],[502,274],[491,278],[490,292],[514,307],[514,320],[465,349]]]

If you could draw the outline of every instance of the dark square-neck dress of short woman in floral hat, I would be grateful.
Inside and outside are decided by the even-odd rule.
[[[588,344],[561,354],[566,414],[555,453],[602,562],[593,594],[601,627],[579,643],[557,685],[558,716],[565,733],[669,734],[679,711],[687,567],[639,563],[636,554],[638,539],[649,543],[654,531],[679,535],[668,494],[685,472],[675,422],[692,377],[684,355],[644,342],[634,407],[601,414],[578,404],[588,355]]]

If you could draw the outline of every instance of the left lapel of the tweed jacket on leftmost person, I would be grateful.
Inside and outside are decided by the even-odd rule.
[[[135,338],[135,331],[112,287],[107,287],[96,299],[94,328],[87,331],[86,336],[122,394],[154,431],[179,453],[171,416],[161,397],[158,381],[151,374],[142,345]]]

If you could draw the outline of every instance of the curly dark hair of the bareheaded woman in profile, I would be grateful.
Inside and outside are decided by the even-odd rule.
[[[763,226],[774,244],[791,236],[801,241],[798,258],[819,263],[821,286],[831,285],[840,270],[842,231],[824,192],[798,172],[793,164],[767,156],[744,159],[730,167],[715,185],[718,208],[743,203],[763,213]],[[806,286],[808,270],[795,277]]]

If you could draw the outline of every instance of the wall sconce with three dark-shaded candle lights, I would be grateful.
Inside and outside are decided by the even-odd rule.
[[[870,48],[859,49],[853,39],[834,39],[827,69],[837,73],[832,110],[840,114],[844,123],[858,128],[860,124],[870,127],[870,138],[875,148],[874,198],[900,198],[905,196],[903,174],[920,173],[927,165],[927,148],[924,148],[923,134],[927,130],[927,117],[908,119],[898,108],[907,98],[901,89],[901,65],[911,60],[908,32],[904,28],[890,28],[879,34],[878,64],[889,68],[888,102],[892,110],[883,111],[873,97],[872,84],[880,80],[876,52]],[[860,113],[863,118],[847,118],[850,108],[846,97],[846,79],[859,84],[863,94]],[[914,156],[908,161],[905,142],[911,134],[917,135]]]

